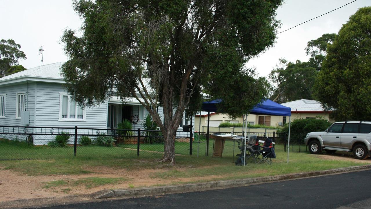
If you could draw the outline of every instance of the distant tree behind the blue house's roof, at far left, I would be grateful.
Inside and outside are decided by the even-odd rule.
[[[11,66],[17,65],[19,60],[27,59],[21,46],[12,39],[0,41],[0,78],[4,77]],[[23,67],[23,66],[22,66]],[[20,70],[20,68],[18,68]]]

